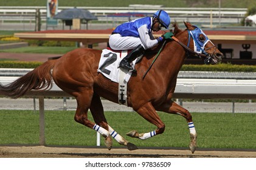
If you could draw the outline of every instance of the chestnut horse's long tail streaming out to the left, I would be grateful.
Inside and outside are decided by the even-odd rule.
[[[51,89],[53,86],[51,69],[55,62],[56,60],[49,60],[6,86],[0,83],[0,94],[19,98],[30,90]]]

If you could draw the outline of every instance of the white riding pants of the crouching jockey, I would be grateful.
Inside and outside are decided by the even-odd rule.
[[[144,47],[139,37],[121,36],[119,33],[113,34],[109,37],[109,46],[113,50],[131,50],[135,49],[139,44]]]

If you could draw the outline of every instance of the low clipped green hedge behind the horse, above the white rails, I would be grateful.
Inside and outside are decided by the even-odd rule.
[[[0,61],[0,68],[33,69],[43,64],[42,62],[26,61]],[[182,71],[206,71],[206,72],[256,72],[256,66],[216,64],[216,65],[193,65],[185,64]]]

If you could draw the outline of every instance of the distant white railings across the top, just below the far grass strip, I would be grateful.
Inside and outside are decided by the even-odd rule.
[[[58,12],[63,9],[71,9],[74,7],[58,7]],[[151,6],[131,6],[131,7],[77,7],[79,9],[87,9],[89,12],[98,16],[99,21],[128,21],[133,18],[119,17],[119,16],[109,16],[116,13],[146,13],[152,15],[156,12],[156,7]],[[46,7],[1,7],[0,6],[0,21],[2,24],[5,21],[34,21],[36,9],[40,9],[41,19],[44,21],[46,19]],[[173,21],[182,22],[210,22],[210,16],[212,15],[212,22],[220,22],[219,16],[221,16],[221,22],[223,23],[239,23],[242,18],[245,17],[247,9],[246,8],[170,8],[161,7],[161,9],[166,10]],[[16,15],[16,16],[15,16]]]

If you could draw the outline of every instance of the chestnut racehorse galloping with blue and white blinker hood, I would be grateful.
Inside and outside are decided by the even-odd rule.
[[[207,38],[201,29],[189,22],[184,22],[187,29],[181,30],[177,23],[173,24],[173,41],[170,39],[159,44],[155,49],[149,49],[135,68],[127,87],[127,104],[145,120],[154,124],[157,129],[152,132],[129,132],[128,136],[145,140],[154,135],[162,134],[165,124],[157,111],[168,114],[178,114],[187,120],[190,130],[190,150],[196,150],[196,130],[192,115],[187,109],[171,100],[175,92],[178,72],[187,55],[197,55],[207,64],[216,64],[221,61],[223,54]],[[184,44],[187,44],[184,45]],[[157,60],[154,56],[159,50]],[[199,50],[200,52],[195,52]],[[18,78],[13,83],[2,86],[0,93],[12,98],[18,98],[30,90],[48,90],[53,81],[62,90],[71,94],[77,100],[75,121],[99,132],[105,138],[105,145],[110,150],[113,137],[119,144],[127,146],[129,150],[137,146],[117,134],[106,121],[102,101],[103,97],[114,103],[118,101],[118,83],[105,78],[97,72],[102,50],[75,49],[58,58],[49,60],[31,72]],[[152,65],[152,61],[155,61]],[[148,68],[150,70],[148,70]],[[148,72],[147,72],[148,70]],[[147,72],[147,75],[145,75]],[[145,75],[145,76],[144,76]],[[90,109],[95,123],[88,120]]]

